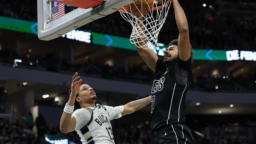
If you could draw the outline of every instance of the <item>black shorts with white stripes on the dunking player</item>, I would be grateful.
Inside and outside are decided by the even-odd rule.
[[[154,144],[194,144],[192,133],[184,124],[171,124],[158,129],[155,133]]]

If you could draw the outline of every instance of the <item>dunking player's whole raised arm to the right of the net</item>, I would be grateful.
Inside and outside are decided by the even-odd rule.
[[[178,38],[178,54],[179,54],[180,60],[186,61],[190,58],[190,55],[191,55],[189,34],[188,34],[188,21],[184,13],[184,10],[180,6],[178,0],[172,0],[172,4],[174,7],[176,24],[180,32],[179,38]]]

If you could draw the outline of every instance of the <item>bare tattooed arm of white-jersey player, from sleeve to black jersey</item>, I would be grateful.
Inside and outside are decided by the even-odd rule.
[[[134,100],[132,102],[129,102],[128,104],[124,105],[124,111],[122,112],[122,116],[124,116],[126,114],[131,114],[131,113],[135,112],[136,110],[143,108],[150,102],[151,102],[151,96],[142,98],[140,100]]]

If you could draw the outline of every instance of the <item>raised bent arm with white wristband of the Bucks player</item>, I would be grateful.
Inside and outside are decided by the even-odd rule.
[[[66,104],[63,110],[64,112],[62,113],[62,116],[60,118],[60,131],[63,133],[72,132],[76,127],[76,119],[72,117],[71,114],[74,111],[76,94],[78,93],[80,86],[82,84],[82,79],[77,81],[79,78],[80,77],[76,72],[72,78],[71,93],[70,93],[68,103]]]

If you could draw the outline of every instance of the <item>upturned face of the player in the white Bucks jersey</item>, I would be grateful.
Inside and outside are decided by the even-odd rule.
[[[80,98],[84,100],[96,100],[97,96],[95,91],[88,84],[82,84],[79,90]]]

